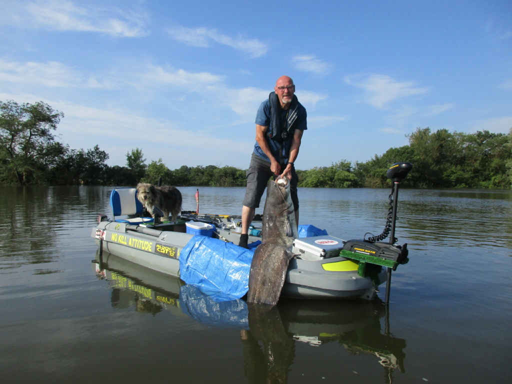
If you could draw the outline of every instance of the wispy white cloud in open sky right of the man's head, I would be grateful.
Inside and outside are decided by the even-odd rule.
[[[371,75],[362,79],[361,76],[346,76],[345,82],[365,90],[366,102],[378,109],[384,108],[386,104],[397,99],[422,95],[429,91],[426,87],[416,87],[412,81],[398,82],[385,75]]]

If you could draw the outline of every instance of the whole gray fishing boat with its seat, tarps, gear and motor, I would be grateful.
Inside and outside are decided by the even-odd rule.
[[[391,271],[409,261],[407,244],[396,244],[394,233],[398,184],[411,168],[410,163],[396,163],[388,169],[393,187],[386,228],[379,236],[343,240],[312,226],[300,226],[301,237],[294,241],[295,256],[281,296],[373,300],[386,282],[385,302],[389,303]],[[261,241],[257,217],[251,225],[249,249],[245,249],[236,245],[240,238],[237,216],[184,211],[176,222],[159,222],[158,209],[154,209],[155,219],[140,217],[143,207],[136,188],[128,187],[112,191],[111,208],[112,217],[99,216],[91,233],[100,258],[108,252],[185,283],[203,285],[212,294],[240,298],[247,291],[251,256]],[[388,235],[389,242],[382,242]]]

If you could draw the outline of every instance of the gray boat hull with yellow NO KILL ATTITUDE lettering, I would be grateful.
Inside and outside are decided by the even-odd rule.
[[[106,251],[146,268],[179,277],[180,252],[194,234],[160,230],[158,226],[150,229],[129,223],[101,221],[92,229],[91,236],[96,239],[100,253]],[[234,230],[220,228],[214,234],[214,237],[235,244],[239,236]],[[258,238],[251,236],[249,243],[255,240]],[[386,270],[383,268],[373,278],[361,277],[358,275],[357,262],[343,257],[309,256],[310,260],[304,260],[301,257],[306,257],[305,254],[297,254],[290,261],[282,296],[372,300],[378,286],[386,281]]]

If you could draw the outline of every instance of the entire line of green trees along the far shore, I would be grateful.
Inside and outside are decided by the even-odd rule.
[[[140,148],[126,153],[125,166],[109,166],[96,145],[76,150],[56,140],[63,113],[44,102],[0,101],[0,183],[49,185],[135,185],[138,182],[183,186],[245,186],[245,169],[215,165],[170,170],[162,159],[146,164]],[[414,168],[403,186],[417,188],[510,188],[512,128],[451,133],[417,128],[408,145],[390,148],[367,162],[340,160],[330,166],[297,170],[302,187],[388,187],[386,170],[399,161]]]

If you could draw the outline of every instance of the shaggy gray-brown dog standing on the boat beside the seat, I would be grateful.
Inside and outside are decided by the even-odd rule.
[[[153,184],[137,184],[137,199],[144,208],[150,212],[153,218],[153,206],[160,208],[164,214],[163,220],[169,220],[169,214],[172,214],[173,221],[178,220],[178,214],[181,211],[181,192],[175,187],[162,185],[157,187]]]

